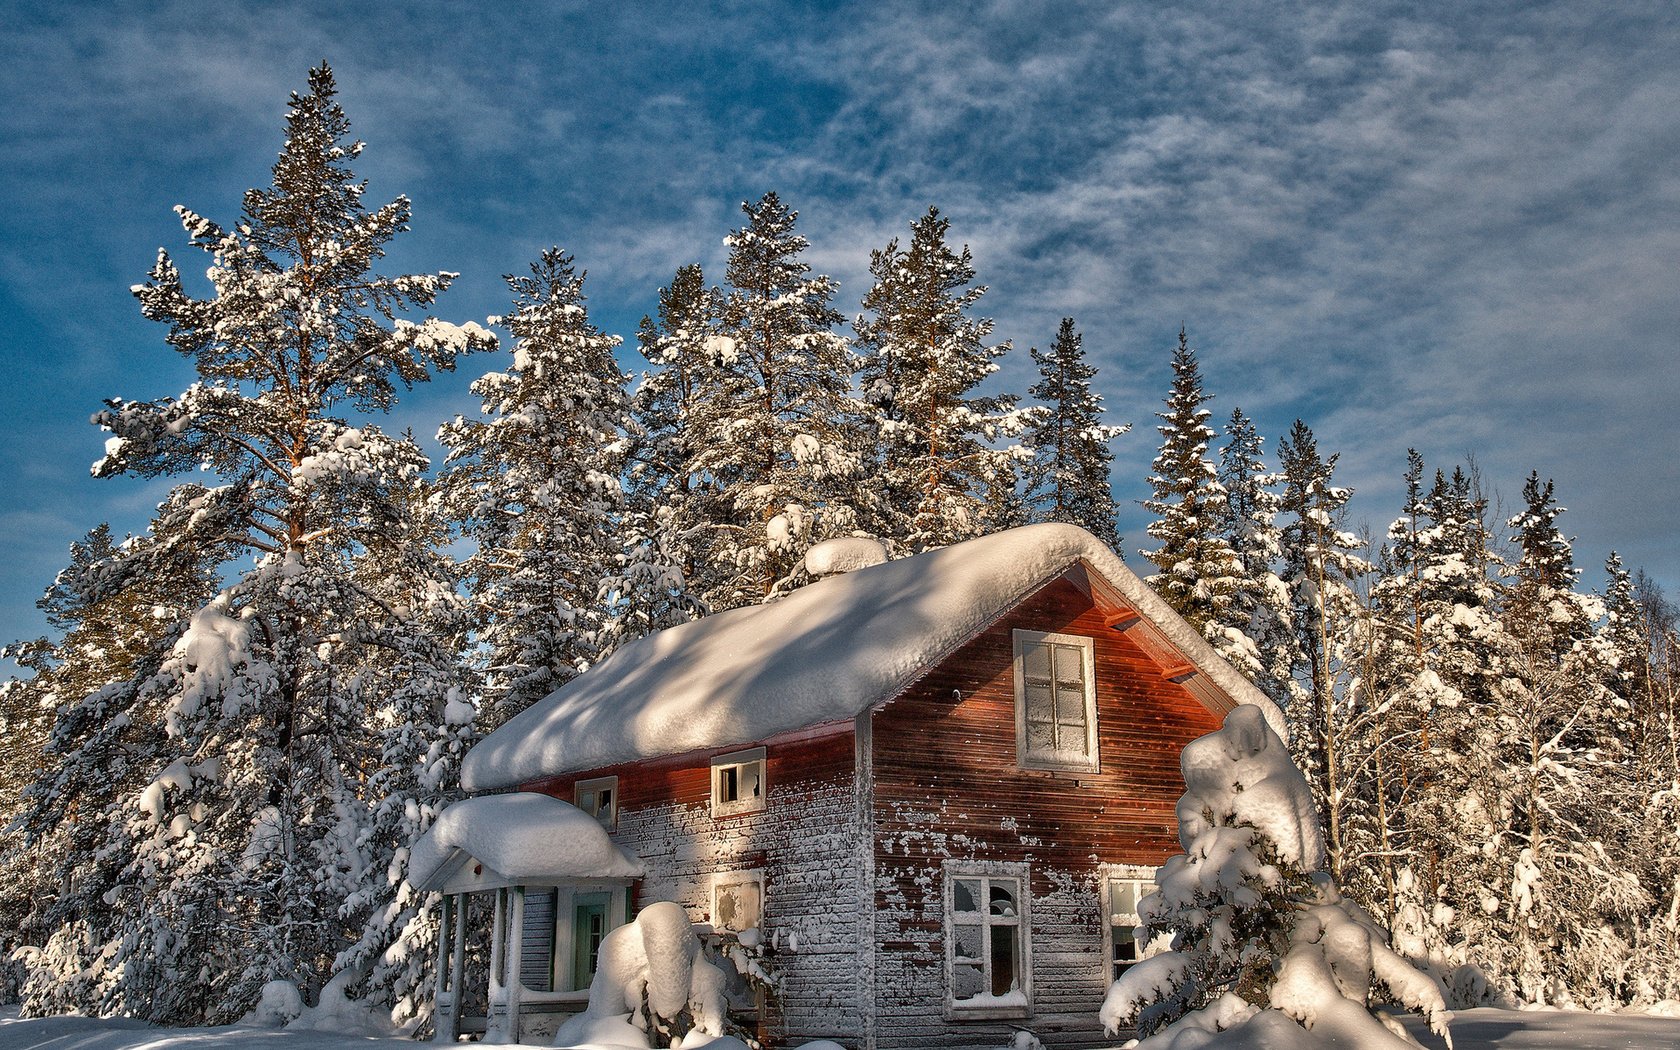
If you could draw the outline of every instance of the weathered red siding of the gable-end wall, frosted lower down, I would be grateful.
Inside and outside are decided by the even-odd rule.
[[[1220,724],[1112,612],[1055,581],[874,714],[875,1047],[1003,1047],[1013,1026],[1047,1047],[1109,1045],[1097,865],[1178,852],[1179,751]],[[1015,628],[1095,640],[1099,773],[1018,768]],[[1025,1018],[944,1020],[948,858],[1032,865]]]

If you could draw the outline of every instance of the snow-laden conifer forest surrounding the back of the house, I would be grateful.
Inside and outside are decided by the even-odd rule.
[[[727,265],[675,272],[640,378],[554,249],[491,326],[423,314],[452,274],[383,276],[408,202],[370,207],[331,72],[294,94],[267,186],[180,210],[208,292],[160,252],[134,287],[198,381],[109,402],[96,474],[168,477],[104,526],[8,648],[5,990],[29,1011],[230,1021],[262,986],[420,1016],[435,917],[408,843],[465,749],[652,630],[774,601],[803,554],[895,556],[1032,521],[1121,548],[1080,333],[1010,346],[936,208],[870,255],[847,321],[774,193]],[[501,339],[492,333],[501,329]],[[501,346],[501,349],[497,349]],[[378,418],[497,351],[435,469]],[[1680,996],[1677,613],[1614,556],[1586,591],[1552,487],[1494,517],[1470,467],[1416,454],[1381,536],[1346,528],[1305,423],[1275,460],[1211,425],[1188,333],[1144,502],[1151,583],[1287,712],[1331,870],[1458,1001]]]

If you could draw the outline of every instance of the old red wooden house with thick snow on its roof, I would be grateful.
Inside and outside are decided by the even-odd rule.
[[[774,946],[774,1042],[1102,1042],[1178,852],[1179,751],[1236,704],[1282,717],[1079,528],[869,548],[813,549],[852,571],[627,645],[472,749],[480,795],[412,865],[447,900],[440,1035],[462,902],[494,890],[492,1040],[581,1006],[601,936],[674,900]]]

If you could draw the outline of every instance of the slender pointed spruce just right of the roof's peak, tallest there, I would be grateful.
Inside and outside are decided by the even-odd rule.
[[[1158,412],[1161,450],[1151,464],[1151,497],[1144,507],[1156,516],[1149,536],[1161,546],[1142,551],[1159,573],[1149,585],[1178,615],[1203,632],[1218,633],[1230,617],[1231,596],[1240,585],[1236,554],[1220,534],[1225,489],[1208,459],[1213,415],[1203,405],[1213,395],[1201,388],[1201,366],[1181,328],[1173,349],[1173,388],[1166,412]]]

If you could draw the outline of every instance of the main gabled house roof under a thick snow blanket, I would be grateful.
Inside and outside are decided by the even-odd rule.
[[[1037,524],[860,568],[648,635],[519,712],[462,766],[470,791],[842,722],[890,701],[1052,580],[1077,580],[1215,711],[1277,707],[1090,533]]]

